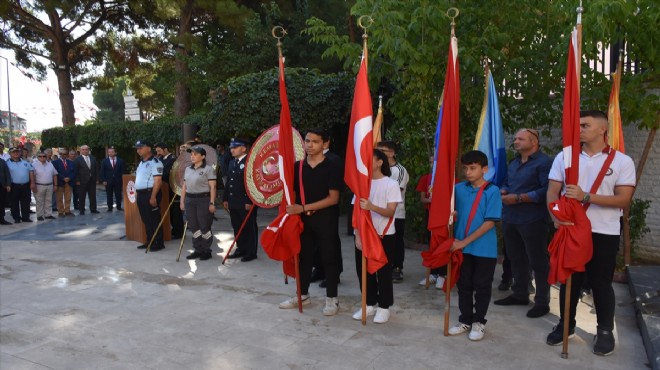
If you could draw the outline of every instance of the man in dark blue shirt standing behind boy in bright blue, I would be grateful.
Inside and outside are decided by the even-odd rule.
[[[552,160],[539,148],[538,131],[519,130],[513,146],[518,155],[509,163],[501,188],[502,230],[506,254],[513,270],[513,294],[496,305],[529,304],[530,267],[534,271],[536,296],[527,317],[541,317],[550,311],[548,272],[548,212],[545,205],[548,173]]]

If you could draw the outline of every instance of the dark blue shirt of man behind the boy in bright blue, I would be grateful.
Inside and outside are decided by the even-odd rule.
[[[552,167],[552,159],[541,151],[530,155],[525,163],[522,163],[519,155],[509,162],[507,177],[502,189],[510,194],[527,194],[533,203],[504,205],[503,222],[529,224],[548,219],[549,213],[545,199],[548,192],[550,167]]]

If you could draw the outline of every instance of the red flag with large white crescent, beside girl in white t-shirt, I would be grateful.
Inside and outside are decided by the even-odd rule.
[[[353,228],[362,241],[362,254],[367,260],[367,271],[370,274],[376,273],[387,263],[383,245],[371,220],[371,212],[359,206],[360,198],[369,199],[373,146],[373,110],[367,79],[367,64],[363,58],[355,81],[344,181],[355,194]]]

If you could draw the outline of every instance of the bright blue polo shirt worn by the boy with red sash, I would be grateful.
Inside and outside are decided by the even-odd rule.
[[[489,184],[479,201],[477,212],[470,223],[470,230],[465,234],[465,226],[467,225],[472,204],[477,198],[479,188],[472,187],[469,181],[464,181],[456,184],[455,187],[456,199],[456,222],[454,222],[454,237],[459,240],[465,239],[469,234],[472,234],[486,221],[499,221],[502,217],[502,196],[500,189]],[[463,253],[471,254],[478,257],[497,258],[497,233],[495,228],[491,228],[479,239],[468,244],[463,248]]]

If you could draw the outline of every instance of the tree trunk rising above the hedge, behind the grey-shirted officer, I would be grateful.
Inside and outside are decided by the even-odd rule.
[[[176,86],[174,95],[174,115],[176,117],[185,117],[190,112],[190,85],[188,83],[190,69],[188,68],[188,49],[189,39],[193,26],[193,8],[194,0],[186,1],[186,5],[181,9],[181,19],[179,20],[179,32],[177,34],[176,61],[174,69],[176,71]]]

